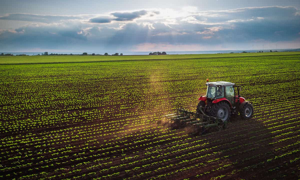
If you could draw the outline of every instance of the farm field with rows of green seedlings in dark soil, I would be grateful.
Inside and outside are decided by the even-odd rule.
[[[245,57],[241,57],[245,56]],[[1,179],[299,179],[300,53],[0,57]],[[193,136],[205,80],[242,85],[250,120]]]

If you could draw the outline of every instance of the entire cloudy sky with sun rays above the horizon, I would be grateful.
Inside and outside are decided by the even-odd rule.
[[[300,1],[9,0],[2,52],[300,48]]]

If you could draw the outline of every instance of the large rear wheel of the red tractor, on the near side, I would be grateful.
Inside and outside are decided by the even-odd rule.
[[[212,107],[211,116],[228,122],[231,116],[229,104],[227,104],[225,101],[217,103]]]

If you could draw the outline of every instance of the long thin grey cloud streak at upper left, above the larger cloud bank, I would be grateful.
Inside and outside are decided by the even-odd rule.
[[[0,19],[52,23],[52,22],[59,22],[61,20],[83,19],[83,18],[79,16],[58,16],[58,15],[37,15],[37,14],[14,13],[14,14],[8,14],[6,16],[1,16]]]

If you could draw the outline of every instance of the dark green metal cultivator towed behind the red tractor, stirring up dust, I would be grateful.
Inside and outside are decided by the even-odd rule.
[[[201,109],[201,107],[200,107]],[[194,113],[190,110],[177,109],[177,113],[164,116],[171,128],[179,129],[192,127],[193,134],[205,134],[209,131],[220,131],[226,128],[227,121],[201,113]]]

